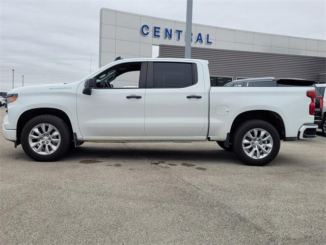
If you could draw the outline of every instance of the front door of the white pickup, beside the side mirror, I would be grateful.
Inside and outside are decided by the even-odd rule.
[[[110,140],[145,136],[147,62],[125,62],[95,76],[91,95],[77,90],[77,118],[83,139]]]

